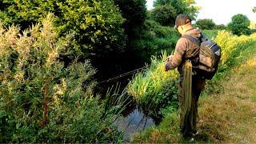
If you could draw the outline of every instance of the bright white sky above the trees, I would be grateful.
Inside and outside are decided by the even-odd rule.
[[[146,0],[147,9],[153,9],[154,0]],[[196,6],[201,6],[198,18],[210,18],[216,24],[231,22],[235,14],[244,14],[251,21],[256,22],[256,13],[252,9],[256,6],[256,0],[195,0]]]

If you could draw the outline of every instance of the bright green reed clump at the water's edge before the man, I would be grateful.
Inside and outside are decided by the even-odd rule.
[[[152,114],[158,114],[159,110],[168,105],[178,106],[177,72],[167,73],[163,70],[162,60],[166,59],[166,53],[162,58],[151,58],[151,65],[142,73],[134,76],[127,86],[128,94],[140,106],[149,110]]]

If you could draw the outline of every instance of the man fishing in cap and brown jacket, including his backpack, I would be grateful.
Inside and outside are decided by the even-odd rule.
[[[178,39],[174,55],[166,58],[164,70],[178,68],[178,100],[180,107],[180,129],[184,138],[194,141],[198,134],[198,98],[205,87],[206,79],[213,78],[218,70],[221,48],[202,35],[202,30],[194,28],[191,19],[179,14],[174,28],[182,34]]]

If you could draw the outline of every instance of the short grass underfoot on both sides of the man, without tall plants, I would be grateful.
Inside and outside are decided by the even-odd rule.
[[[255,46],[254,46],[255,47]],[[195,142],[256,143],[256,50],[249,60],[234,66],[219,82],[221,93],[199,99]],[[178,128],[178,114],[169,114],[159,126],[134,135],[133,142],[186,142]]]

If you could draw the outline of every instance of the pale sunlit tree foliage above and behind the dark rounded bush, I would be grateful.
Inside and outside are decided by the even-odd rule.
[[[200,9],[198,6],[193,6],[194,3],[194,0],[155,0],[154,7],[170,5],[174,7],[177,15],[187,14],[194,20]]]

